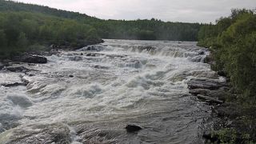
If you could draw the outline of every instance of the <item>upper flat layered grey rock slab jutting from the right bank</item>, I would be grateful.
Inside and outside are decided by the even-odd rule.
[[[193,89],[208,89],[218,90],[220,87],[227,86],[225,82],[218,82],[211,79],[191,79],[187,83],[190,90]]]

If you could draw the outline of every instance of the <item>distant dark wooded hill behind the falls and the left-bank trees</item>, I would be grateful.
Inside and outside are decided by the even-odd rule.
[[[58,18],[73,19],[79,23],[94,28],[100,38],[140,39],[140,40],[170,40],[170,41],[198,41],[198,31],[203,26],[199,23],[162,22],[152,18],[150,20],[103,20],[86,14],[58,10],[48,6],[38,6],[22,2],[0,0],[0,12],[30,12],[41,13]]]

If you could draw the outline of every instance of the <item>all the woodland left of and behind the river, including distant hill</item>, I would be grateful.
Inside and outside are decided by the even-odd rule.
[[[72,49],[102,42],[101,38],[197,41],[198,23],[150,20],[102,20],[48,6],[0,0],[0,55],[50,45]]]

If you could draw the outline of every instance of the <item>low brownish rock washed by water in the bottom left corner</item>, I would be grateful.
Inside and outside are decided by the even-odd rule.
[[[22,127],[0,134],[0,142],[16,143],[71,143],[70,129],[63,124]]]

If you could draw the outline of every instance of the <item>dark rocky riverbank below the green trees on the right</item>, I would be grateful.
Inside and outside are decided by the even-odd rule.
[[[213,66],[211,55],[205,58],[206,63]],[[223,79],[226,74],[217,72]],[[248,143],[255,142],[255,113],[252,108],[244,108],[236,101],[237,92],[226,80],[195,78],[188,82],[190,94],[198,100],[212,106],[212,116],[205,122],[203,138],[205,143]],[[248,116],[251,115],[249,118]]]

